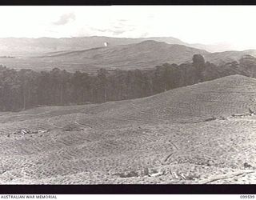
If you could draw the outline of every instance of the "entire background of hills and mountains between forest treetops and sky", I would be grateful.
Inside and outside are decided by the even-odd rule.
[[[238,61],[245,54],[256,56],[256,50],[210,53],[183,43],[176,38],[0,38],[0,65],[33,70],[58,67],[90,73],[100,68],[146,70],[166,62],[181,64],[191,62],[194,54],[202,54],[216,65]]]

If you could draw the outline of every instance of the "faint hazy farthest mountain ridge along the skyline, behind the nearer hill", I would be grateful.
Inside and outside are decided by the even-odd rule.
[[[139,43],[146,40],[190,46],[209,52],[230,50],[230,46],[223,44],[190,44],[173,37],[110,38],[92,36],[82,38],[0,38],[0,56],[6,56],[6,54],[10,56],[22,56],[63,50],[88,50],[102,47],[104,46],[104,42],[107,42],[109,46],[119,46]]]

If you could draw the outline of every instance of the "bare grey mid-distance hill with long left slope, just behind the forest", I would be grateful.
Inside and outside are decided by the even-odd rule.
[[[36,57],[2,58],[0,63],[14,69],[51,70],[58,67],[68,71],[81,70],[94,73],[99,68],[146,70],[165,62],[188,62],[193,54],[207,54],[207,52],[149,40],[130,45],[46,53]]]

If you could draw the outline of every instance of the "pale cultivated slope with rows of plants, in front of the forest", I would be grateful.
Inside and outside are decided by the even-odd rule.
[[[4,184],[256,183],[256,80],[0,114]]]

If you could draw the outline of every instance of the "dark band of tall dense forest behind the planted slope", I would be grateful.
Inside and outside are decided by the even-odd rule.
[[[179,66],[165,63],[152,70],[101,69],[97,75],[58,68],[35,72],[0,66],[0,111],[142,98],[231,74],[256,77],[256,58],[246,55],[239,62],[215,66],[195,54],[193,62]]]

